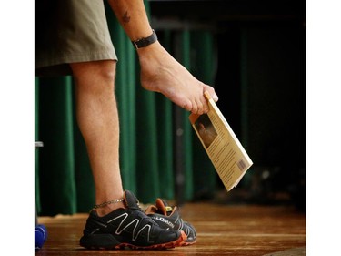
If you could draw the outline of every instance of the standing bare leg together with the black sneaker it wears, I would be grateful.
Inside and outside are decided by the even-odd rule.
[[[118,158],[119,123],[114,94],[115,62],[105,60],[76,63],[71,67],[76,84],[77,121],[85,138],[93,170],[96,204],[121,199],[124,191]],[[138,205],[133,201],[134,194],[125,192],[125,198],[128,202],[126,206],[120,202],[96,210],[99,216],[111,213],[109,221],[98,218],[93,210],[90,212],[84,235],[79,241],[81,246],[91,249],[121,249],[125,246],[164,249],[179,246],[185,241],[184,231],[163,230],[139,211]],[[127,207],[129,210],[115,211],[119,207]],[[152,240],[149,240],[149,235]]]

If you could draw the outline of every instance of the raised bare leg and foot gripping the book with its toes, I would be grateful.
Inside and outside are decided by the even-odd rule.
[[[134,41],[152,34],[144,1],[109,0],[125,33]],[[141,83],[147,90],[162,93],[176,105],[196,114],[208,111],[207,91],[217,101],[215,89],[193,77],[159,42],[137,49]]]

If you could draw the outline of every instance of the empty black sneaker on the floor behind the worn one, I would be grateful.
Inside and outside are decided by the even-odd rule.
[[[196,242],[196,229],[180,217],[178,208],[171,207],[165,200],[156,199],[156,204],[149,206],[145,214],[151,217],[165,230],[183,230],[186,240],[180,245],[190,245]]]

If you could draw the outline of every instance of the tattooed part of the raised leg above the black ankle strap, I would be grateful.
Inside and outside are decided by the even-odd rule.
[[[108,3],[130,40],[135,41],[152,34],[143,0],[108,0]]]

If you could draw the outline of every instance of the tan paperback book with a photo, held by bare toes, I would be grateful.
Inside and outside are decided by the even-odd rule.
[[[235,188],[253,162],[236,134],[229,126],[216,102],[205,93],[209,110],[206,114],[191,114],[189,120],[197,137],[223,181],[227,191]]]

